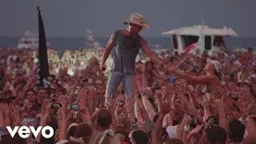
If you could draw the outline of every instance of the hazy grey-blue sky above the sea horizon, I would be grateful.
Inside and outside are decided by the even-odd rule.
[[[37,33],[36,6],[42,9],[46,36],[109,37],[126,28],[131,13],[141,13],[150,23],[142,36],[161,37],[166,30],[202,24],[233,28],[242,37],[256,37],[256,0],[0,0],[0,36]]]

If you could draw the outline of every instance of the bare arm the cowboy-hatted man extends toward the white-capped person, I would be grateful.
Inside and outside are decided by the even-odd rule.
[[[150,58],[152,62],[158,65],[162,65],[162,60],[158,58],[158,54],[150,50],[150,46],[147,45],[146,40],[144,38],[142,38],[142,51],[144,54],[146,54],[147,57]]]

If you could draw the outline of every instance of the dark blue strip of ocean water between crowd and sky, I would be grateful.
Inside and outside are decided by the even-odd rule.
[[[17,46],[18,45],[18,37],[0,37],[0,47],[6,46]],[[66,49],[77,49],[85,47],[85,38],[74,38],[74,37],[54,37],[54,38],[46,38],[48,42],[51,43],[51,46],[55,50],[63,51]],[[95,38],[96,42],[99,42],[101,46],[106,46],[109,38]],[[226,46],[229,48],[246,48],[249,46],[256,47],[256,38],[241,38],[241,37],[233,37],[233,38],[225,38]],[[160,45],[162,48],[169,49],[172,47],[171,38],[146,38],[148,45],[154,48],[155,45]]]

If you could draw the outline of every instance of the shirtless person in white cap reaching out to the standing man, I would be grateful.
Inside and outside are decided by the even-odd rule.
[[[198,84],[205,84],[208,88],[207,92],[210,92],[211,90],[215,90],[216,86],[221,86],[221,70],[222,70],[222,64],[216,60],[212,60],[210,58],[206,59],[206,67],[204,70],[206,71],[205,76],[193,76],[190,74],[184,74],[182,72],[179,72],[178,70],[174,70],[174,67],[168,67],[163,66],[163,70],[167,74],[174,74],[175,76],[179,78],[183,78],[188,80],[189,82],[194,82]]]

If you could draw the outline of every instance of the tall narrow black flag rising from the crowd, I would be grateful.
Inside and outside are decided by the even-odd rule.
[[[38,7],[38,33],[38,86],[43,86],[48,89],[50,88],[50,82],[48,81],[49,66],[46,46],[46,34],[42,22],[40,7]]]

